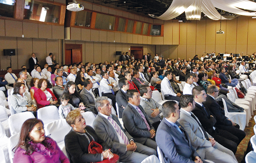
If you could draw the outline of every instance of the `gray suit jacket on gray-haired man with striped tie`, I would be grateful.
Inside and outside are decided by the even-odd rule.
[[[132,136],[126,130],[123,129],[116,115],[112,114],[112,118],[114,121],[116,121],[119,127],[124,131],[125,135],[130,141],[132,139]],[[122,157],[122,159],[124,159],[124,157],[127,157],[131,154],[126,152],[125,144],[119,143],[116,130],[105,117],[98,114],[95,120],[93,121],[93,128],[96,131],[97,135],[110,146],[111,150],[117,155],[119,155],[120,157]]]

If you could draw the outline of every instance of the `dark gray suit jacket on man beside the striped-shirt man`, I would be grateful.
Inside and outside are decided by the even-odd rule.
[[[149,124],[150,129],[155,130],[152,124],[149,122],[148,116],[143,110],[143,108],[139,105],[141,112],[145,115],[146,120]],[[144,144],[147,141],[147,138],[150,138],[150,131],[140,116],[140,113],[135,110],[130,103],[125,107],[123,111],[124,127],[130,133],[130,135],[134,138],[136,142]]]

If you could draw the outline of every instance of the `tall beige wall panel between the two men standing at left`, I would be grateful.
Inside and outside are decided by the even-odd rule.
[[[44,65],[46,62],[46,39],[32,39],[33,40],[33,53],[36,53],[36,57],[40,65]]]

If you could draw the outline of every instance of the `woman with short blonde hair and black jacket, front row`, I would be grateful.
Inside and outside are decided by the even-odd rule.
[[[99,162],[113,157],[109,149],[110,146],[96,134],[91,126],[86,125],[80,110],[71,110],[66,117],[66,121],[72,127],[64,139],[66,152],[71,162]],[[89,153],[88,146],[92,141],[102,145],[104,152]]]

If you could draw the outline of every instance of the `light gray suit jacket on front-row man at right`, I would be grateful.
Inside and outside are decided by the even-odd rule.
[[[191,114],[194,114],[191,112]],[[196,120],[188,115],[187,112],[184,110],[180,109],[180,119],[178,119],[178,122],[184,127],[184,129],[188,132],[189,139],[191,142],[191,145],[193,148],[196,150],[196,152],[200,156],[204,156],[205,147],[211,147],[212,144],[210,141],[204,139],[204,135],[200,130],[200,126],[196,122]],[[207,132],[206,132],[207,133]],[[212,138],[211,135],[207,133],[209,138]],[[204,158],[202,158],[204,159]]]

